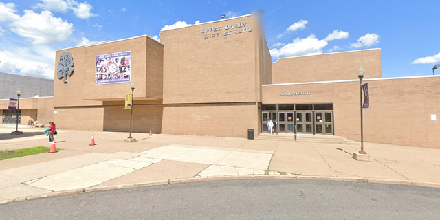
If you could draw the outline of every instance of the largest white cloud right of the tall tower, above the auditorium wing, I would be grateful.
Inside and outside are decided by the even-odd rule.
[[[327,46],[327,44],[327,41],[319,40],[314,34],[311,34],[305,39],[298,37],[292,43],[284,45],[279,50],[274,48],[270,50],[270,54],[272,58],[322,54],[322,48]]]

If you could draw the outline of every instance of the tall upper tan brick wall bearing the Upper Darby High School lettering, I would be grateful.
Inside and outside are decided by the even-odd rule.
[[[239,23],[252,32],[224,36],[225,25]],[[216,27],[222,27],[221,36],[205,39],[201,30]],[[259,23],[251,16],[161,32],[164,103],[256,102],[258,36]]]

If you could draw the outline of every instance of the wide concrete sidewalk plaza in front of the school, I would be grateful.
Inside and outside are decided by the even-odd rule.
[[[51,146],[43,129],[0,126],[0,151]],[[91,135],[95,146],[89,146]],[[194,135],[58,130],[57,153],[0,161],[0,203],[74,192],[242,178],[330,179],[440,188],[440,149],[364,143],[296,143]]]

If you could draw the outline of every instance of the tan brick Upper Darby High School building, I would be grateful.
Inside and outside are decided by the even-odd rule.
[[[58,79],[39,109],[63,129],[247,137],[267,132],[360,140],[360,80],[370,107],[364,141],[440,148],[439,76],[382,78],[381,50],[280,58],[272,63],[251,15],[149,36],[72,47],[74,74]],[[67,79],[67,81],[65,81]],[[39,116],[40,118],[40,116]]]

